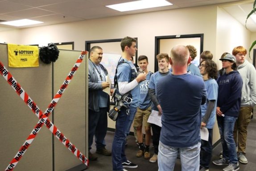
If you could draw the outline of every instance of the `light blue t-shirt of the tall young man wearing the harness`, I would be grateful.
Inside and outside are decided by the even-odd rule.
[[[124,60],[124,63],[121,63],[117,67],[117,82],[131,82],[131,69],[134,69],[134,71],[137,73],[136,67],[133,65],[132,61],[128,61],[124,59],[123,57],[120,60]],[[131,107],[138,107],[139,105],[139,99],[140,99],[140,85],[136,85],[131,90],[131,95],[132,95],[132,102],[128,105]],[[126,103],[124,103],[126,104]]]

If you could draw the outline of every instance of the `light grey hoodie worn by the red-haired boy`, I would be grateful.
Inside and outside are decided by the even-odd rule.
[[[248,62],[238,66],[237,71],[243,79],[241,106],[255,106],[256,104],[256,69]]]

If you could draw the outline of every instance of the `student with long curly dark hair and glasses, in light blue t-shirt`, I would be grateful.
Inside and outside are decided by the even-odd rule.
[[[201,139],[199,171],[209,171],[212,154],[212,129],[215,123],[218,98],[218,84],[215,81],[218,77],[218,70],[216,63],[209,59],[202,60],[199,65],[199,69],[208,94],[205,104],[201,105],[201,128],[206,127],[209,132],[208,141]]]

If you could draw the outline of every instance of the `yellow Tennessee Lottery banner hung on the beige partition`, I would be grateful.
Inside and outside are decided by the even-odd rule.
[[[37,67],[38,47],[28,45],[8,44],[9,67]]]

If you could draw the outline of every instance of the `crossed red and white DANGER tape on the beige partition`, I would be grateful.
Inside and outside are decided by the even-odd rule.
[[[87,51],[83,51],[81,55],[78,57],[78,60],[74,64],[70,73],[66,77],[66,80],[63,82],[62,86],[58,90],[57,94],[55,94],[54,98],[50,102],[50,105],[45,110],[45,113],[39,109],[35,102],[29,97],[29,95],[22,89],[21,85],[12,77],[12,74],[8,72],[8,70],[4,67],[4,65],[0,61],[0,74],[5,78],[5,80],[12,86],[12,88],[16,91],[16,93],[22,98],[22,100],[29,106],[29,108],[33,111],[34,114],[37,115],[39,121],[36,126],[30,133],[29,137],[26,139],[25,143],[21,146],[20,150],[17,152],[15,157],[12,159],[8,167],[5,171],[12,171],[17,163],[20,161],[21,157],[25,154],[25,151],[29,148],[30,144],[33,142],[37,133],[41,130],[41,127],[45,125],[56,138],[59,139],[79,160],[81,160],[86,166],[88,166],[89,161],[87,158],[61,133],[60,130],[48,119],[50,113],[54,109],[54,106],[57,105],[59,99],[62,94],[66,90],[68,84],[70,83],[74,73],[77,71],[79,65],[83,61],[84,56],[87,54]]]

